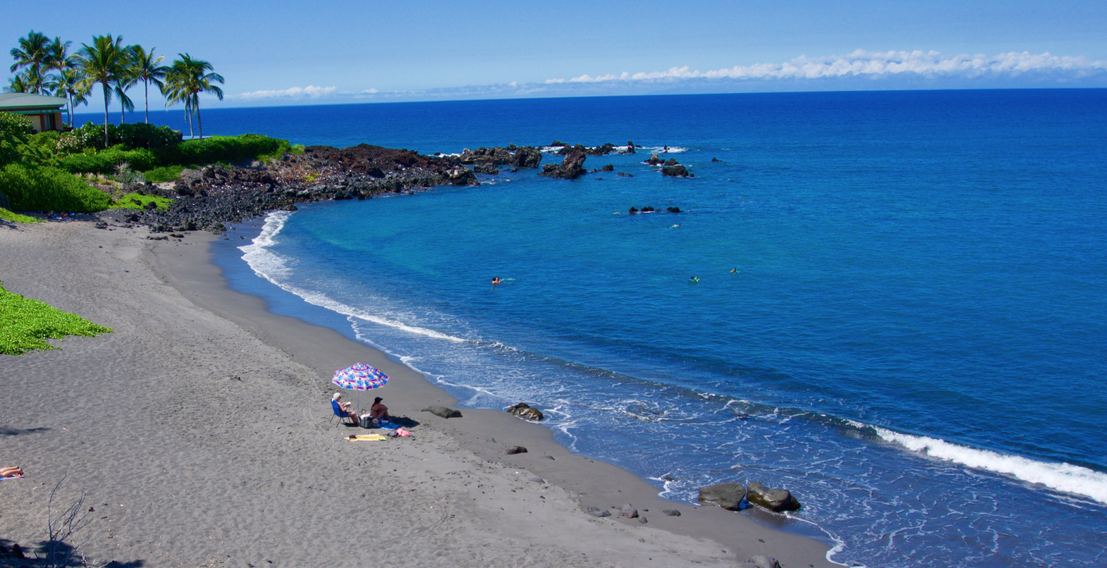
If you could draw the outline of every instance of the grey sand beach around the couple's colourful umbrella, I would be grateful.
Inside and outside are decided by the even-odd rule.
[[[0,465],[27,472],[0,482],[6,547],[45,538],[64,479],[54,507],[83,495],[92,520],[73,544],[118,566],[836,566],[825,545],[749,518],[772,514],[663,500],[542,425],[422,412],[456,401],[380,351],[228,289],[209,261],[221,237],[147,235],[91,218],[0,227],[9,291],[114,330],[0,355]],[[361,405],[382,396],[418,423],[411,437],[343,440],[368,433],[330,421],[330,379],[355,362],[391,376]]]

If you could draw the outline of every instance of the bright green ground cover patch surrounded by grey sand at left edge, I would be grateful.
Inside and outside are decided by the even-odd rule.
[[[37,349],[58,349],[45,339],[96,337],[112,330],[45,302],[6,290],[0,282],[0,354],[19,355]]]

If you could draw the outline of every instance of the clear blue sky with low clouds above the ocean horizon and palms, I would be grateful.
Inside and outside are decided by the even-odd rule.
[[[6,50],[33,29],[74,49],[111,33],[167,60],[188,52],[210,61],[227,97],[204,100],[208,107],[1107,86],[1103,0],[65,0],[2,11]],[[139,103],[141,89],[128,94]],[[93,99],[89,109],[102,104]],[[161,97],[151,106],[161,109]]]

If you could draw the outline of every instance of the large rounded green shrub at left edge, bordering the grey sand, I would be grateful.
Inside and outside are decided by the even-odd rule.
[[[0,187],[14,210],[99,211],[111,204],[103,192],[49,166],[4,165],[0,167]]]

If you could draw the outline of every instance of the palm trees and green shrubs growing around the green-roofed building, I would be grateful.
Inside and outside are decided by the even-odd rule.
[[[103,124],[86,123],[68,132],[34,133],[19,114],[0,112],[0,219],[23,221],[11,210],[95,211],[108,207],[157,207],[167,200],[124,193],[145,182],[176,179],[185,167],[229,164],[247,158],[277,158],[289,152],[288,141],[256,134],[204,138],[200,95],[223,99],[224,79],[211,63],[179,53],[169,65],[155,48],[126,45],[122,37],[96,35],[75,51],[72,42],[31,31],[11,50],[15,75],[6,91],[64,97],[69,122],[73,110],[87,104],[95,89],[104,97]],[[127,95],[142,84],[144,122],[108,122],[108,109],[118,101],[123,113],[135,110]],[[184,104],[189,134],[193,117],[196,140],[179,131],[149,124],[149,86],[165,95],[166,104]],[[90,184],[96,184],[97,188]]]

